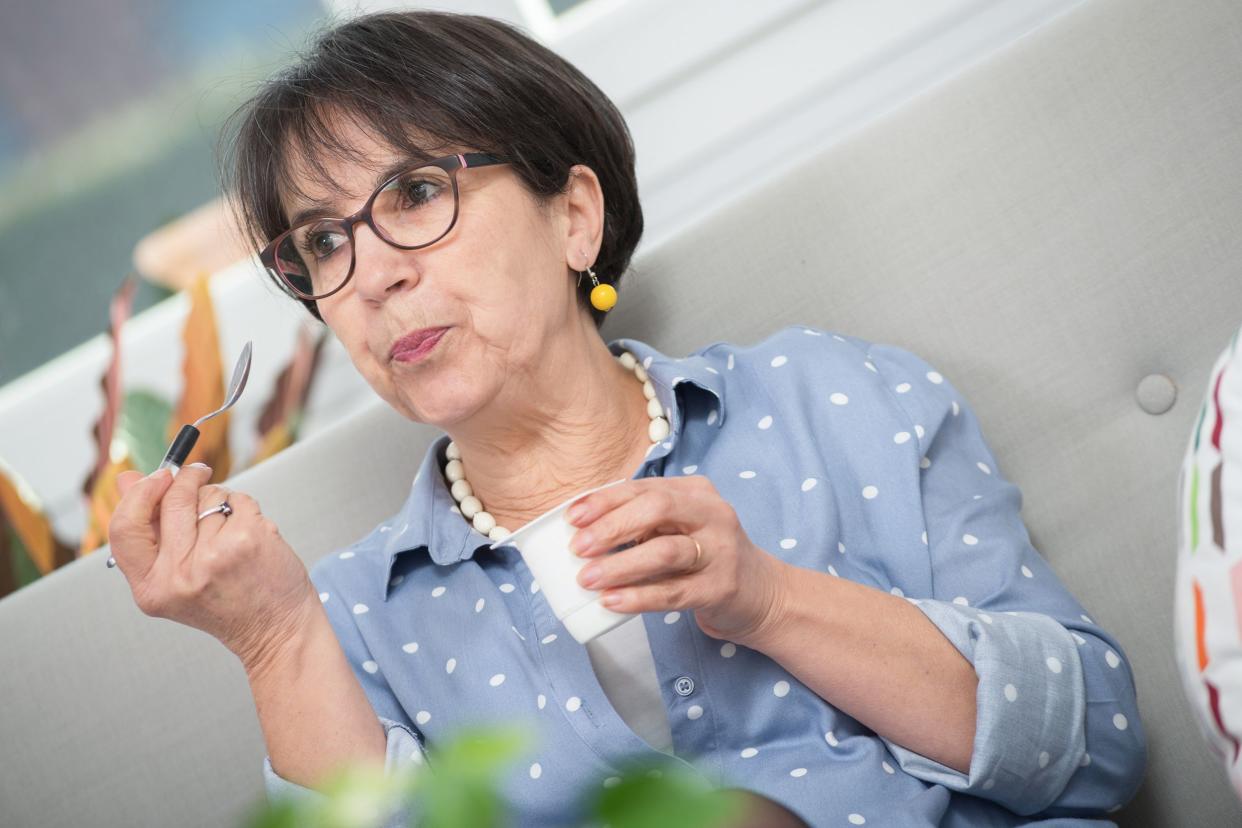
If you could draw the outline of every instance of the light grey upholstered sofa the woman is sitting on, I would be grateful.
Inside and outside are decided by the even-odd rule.
[[[1242,4],[1088,0],[645,250],[620,294],[604,335],[668,354],[801,323],[936,365],[1131,660],[1150,760],[1112,818],[1242,824],[1171,622],[1180,459],[1242,322]],[[310,566],[435,436],[375,398],[227,484]],[[238,826],[263,797],[246,677],[106,557],[0,601],[0,823]]]

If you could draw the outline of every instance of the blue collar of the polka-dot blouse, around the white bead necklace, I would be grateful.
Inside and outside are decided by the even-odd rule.
[[[669,413],[669,438],[657,446],[658,454],[667,454],[672,442],[681,432],[682,411],[677,401],[677,387],[687,385],[710,394],[717,401],[715,427],[724,425],[724,380],[710,366],[704,356],[693,355],[672,358],[637,339],[616,339],[609,343],[609,350],[616,356],[628,350],[647,370],[647,376],[656,390],[656,397]],[[378,526],[366,540],[378,541],[383,550],[381,567],[384,582],[380,595],[388,601],[392,581],[392,567],[397,556],[405,552],[428,552],[431,560],[440,566],[448,566],[467,560],[489,541],[476,533],[457,508],[457,502],[448,490],[441,469],[448,447],[448,434],[441,434],[424,454],[422,464],[414,477],[410,494],[401,509]],[[651,457],[656,457],[652,453]],[[473,540],[472,540],[473,539]]]

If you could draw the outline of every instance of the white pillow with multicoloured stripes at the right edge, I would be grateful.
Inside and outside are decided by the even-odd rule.
[[[1240,330],[1238,333],[1242,333]],[[1199,724],[1242,797],[1242,350],[1216,360],[1177,480],[1176,648]]]

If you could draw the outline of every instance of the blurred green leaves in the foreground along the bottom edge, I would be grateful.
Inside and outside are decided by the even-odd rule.
[[[428,750],[426,762],[385,773],[349,765],[312,796],[273,797],[243,828],[499,828],[508,824],[501,777],[533,744],[529,730],[469,729]],[[712,788],[688,770],[635,763],[605,786],[587,786],[578,812],[609,828],[727,828],[748,803],[740,791]],[[404,809],[404,811],[402,811]]]

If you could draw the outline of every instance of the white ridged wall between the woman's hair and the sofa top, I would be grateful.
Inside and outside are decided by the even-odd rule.
[[[617,104],[658,245],[764,179],[1086,0],[325,0],[525,26]],[[642,250],[642,248],[640,248]]]

